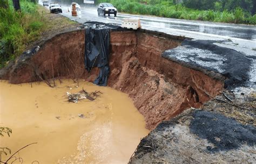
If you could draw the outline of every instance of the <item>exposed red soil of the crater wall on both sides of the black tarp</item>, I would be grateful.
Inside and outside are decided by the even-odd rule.
[[[24,83],[52,77],[82,78],[93,81],[99,69],[84,69],[84,30],[59,34],[45,42],[29,60],[17,61],[5,69],[0,79]],[[161,38],[148,33],[111,32],[111,73],[108,85],[129,94],[153,129],[162,120],[170,119],[186,108],[198,108],[218,95],[223,82],[202,72],[161,58],[166,49],[182,40]]]

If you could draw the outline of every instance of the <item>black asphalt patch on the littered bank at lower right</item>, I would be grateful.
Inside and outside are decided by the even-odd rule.
[[[241,144],[256,144],[254,126],[242,125],[235,119],[207,111],[196,111],[193,118],[190,131],[214,144],[214,147],[207,147],[210,152],[228,151],[239,148]]]

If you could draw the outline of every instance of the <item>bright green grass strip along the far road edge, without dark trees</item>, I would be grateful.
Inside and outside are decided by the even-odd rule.
[[[159,4],[142,4],[134,0],[99,0],[98,3],[109,2],[117,7],[119,12],[152,15],[158,17],[203,20],[219,23],[251,24],[256,25],[256,15],[251,16],[241,8],[232,11],[195,10],[181,4],[161,2]]]

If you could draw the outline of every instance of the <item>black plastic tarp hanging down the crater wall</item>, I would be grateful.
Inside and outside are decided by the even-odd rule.
[[[110,28],[104,25],[93,24],[86,28],[85,33],[85,69],[91,72],[93,67],[99,67],[100,73],[95,84],[107,85],[109,68]]]

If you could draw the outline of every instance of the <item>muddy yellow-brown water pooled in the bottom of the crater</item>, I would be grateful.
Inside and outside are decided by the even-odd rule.
[[[0,126],[12,129],[10,137],[0,138],[0,147],[16,152],[38,142],[17,155],[23,163],[127,163],[140,138],[149,133],[143,116],[120,91],[89,82],[75,85],[72,80],[56,88],[42,82],[32,88],[29,83],[0,82]],[[65,93],[82,87],[103,94],[96,101],[67,102]]]

